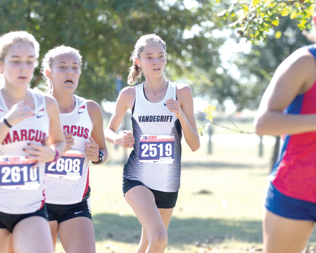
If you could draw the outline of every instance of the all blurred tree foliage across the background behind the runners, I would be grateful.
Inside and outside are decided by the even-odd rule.
[[[310,44],[297,26],[301,22],[297,20],[298,15],[277,13],[279,2],[290,5],[291,1],[269,1],[277,3],[275,17],[280,16],[279,23],[273,25],[273,18],[264,20],[272,25],[262,32],[263,42],[246,44],[245,52],[234,53],[223,62],[220,49],[227,40],[240,35],[245,15],[258,14],[258,8],[251,6],[260,2],[2,0],[0,32],[27,30],[32,33],[40,42],[40,59],[47,50],[61,44],[79,49],[83,67],[76,94],[99,103],[115,101],[119,90],[127,85],[129,58],[137,39],[143,34],[155,33],[167,43],[168,78],[188,83],[194,96],[214,103],[218,110],[224,108],[225,101],[231,100],[239,111],[256,109],[276,66],[297,48]],[[299,2],[309,8],[311,1]],[[245,17],[240,19],[236,13]],[[311,25],[307,25],[310,17],[305,16],[305,27],[311,29]],[[248,26],[258,30],[256,22],[258,20],[252,18]],[[247,34],[243,37],[252,39]],[[244,43],[244,38],[239,36],[236,43]],[[223,53],[230,53],[226,51]],[[232,67],[236,71],[231,71]],[[31,86],[45,88],[42,80],[37,69]]]

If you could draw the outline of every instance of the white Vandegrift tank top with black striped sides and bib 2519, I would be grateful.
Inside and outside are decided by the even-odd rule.
[[[131,118],[135,144],[123,178],[140,181],[154,190],[175,192],[180,187],[182,128],[165,102],[176,99],[176,83],[168,82],[165,97],[157,103],[147,100],[143,85],[136,87]]]

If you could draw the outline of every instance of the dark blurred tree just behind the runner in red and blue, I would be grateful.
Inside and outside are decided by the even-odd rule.
[[[252,44],[248,54],[240,53],[233,60],[233,64],[236,64],[240,71],[240,79],[248,80],[246,85],[252,94],[256,94],[256,99],[252,101],[254,107],[258,108],[264,90],[277,66],[298,48],[312,43],[307,40],[296,24],[296,21],[290,17],[283,17],[280,19],[278,30],[271,30],[269,34],[266,34],[265,43]],[[280,38],[276,36],[278,31],[283,33]],[[246,78],[249,75],[252,76],[251,80]],[[271,158],[272,166],[277,159],[279,144],[280,136],[276,136],[276,145]]]

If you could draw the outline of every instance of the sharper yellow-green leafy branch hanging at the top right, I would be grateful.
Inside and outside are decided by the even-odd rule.
[[[280,19],[289,16],[301,29],[311,29],[310,18],[314,13],[313,0],[252,0],[236,1],[219,13],[223,17],[235,17],[231,24],[237,27],[236,37],[245,37],[251,42],[267,40],[270,29],[277,29]],[[281,37],[282,31],[276,33]]]

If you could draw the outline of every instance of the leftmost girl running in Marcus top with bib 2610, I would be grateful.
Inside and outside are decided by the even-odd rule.
[[[43,179],[45,162],[57,160],[65,141],[56,100],[27,88],[38,56],[33,35],[0,37],[0,252],[10,233],[16,253],[54,251]]]

